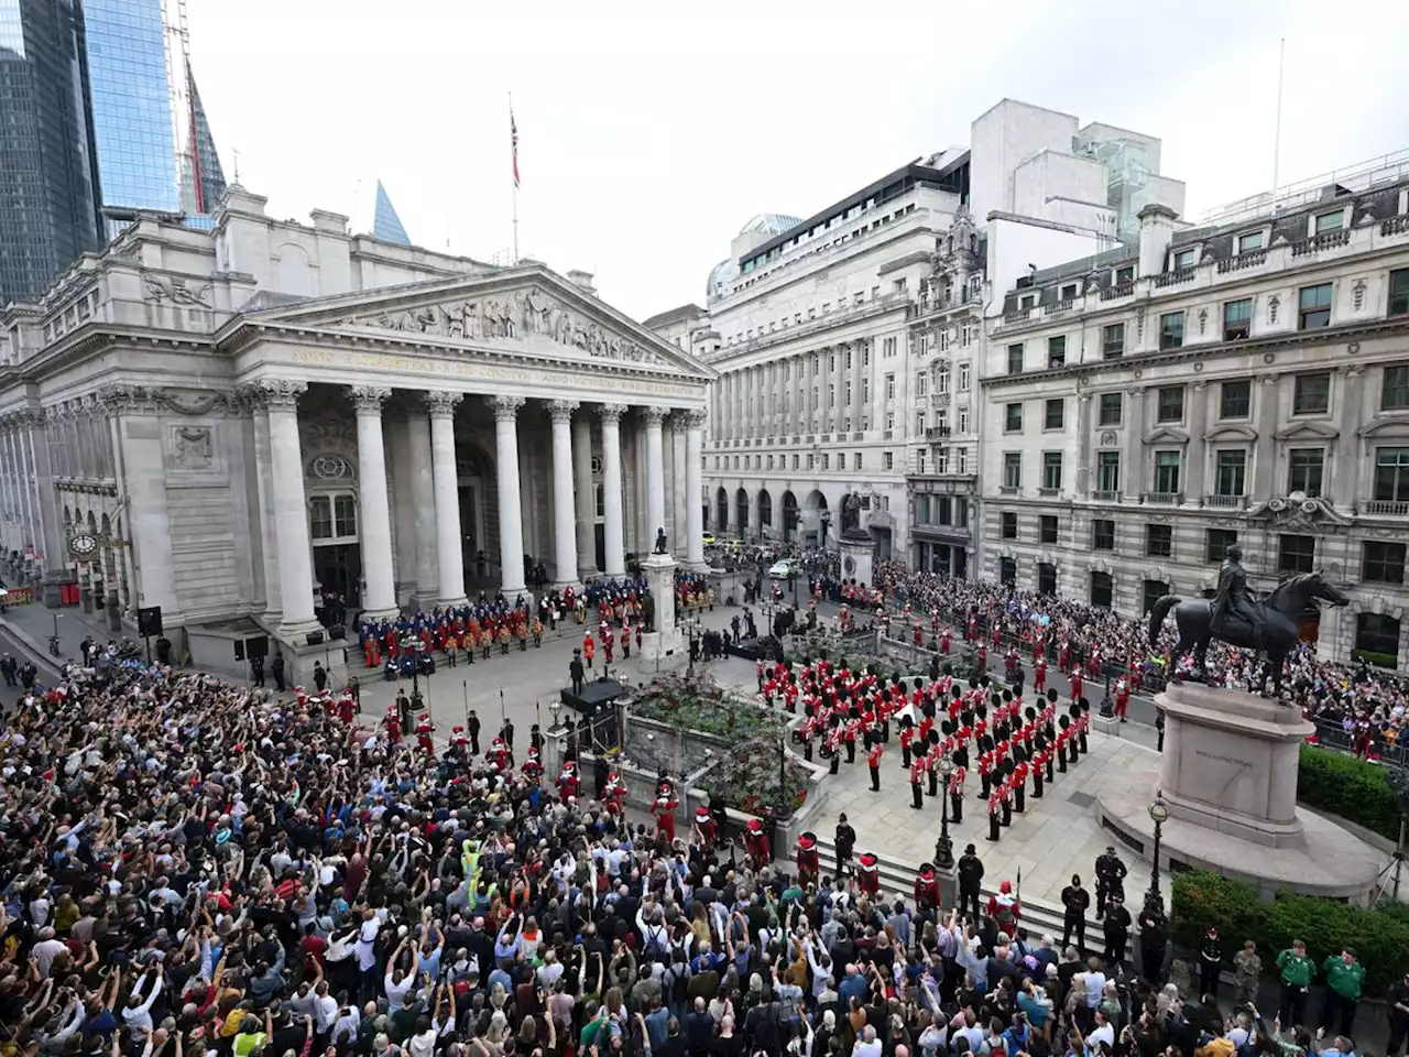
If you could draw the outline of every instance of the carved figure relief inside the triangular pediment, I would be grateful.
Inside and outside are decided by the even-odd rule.
[[[589,357],[631,364],[664,364],[654,350],[616,334],[582,313],[569,309],[537,286],[511,290],[499,297],[451,304],[424,304],[362,316],[355,327],[430,334],[447,338],[547,338],[578,348]]]

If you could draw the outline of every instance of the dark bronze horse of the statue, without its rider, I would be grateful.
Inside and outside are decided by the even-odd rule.
[[[1262,634],[1261,641],[1253,641],[1251,629],[1243,620],[1233,620],[1224,629],[1224,634],[1217,636],[1229,645],[1244,650],[1262,651],[1267,654],[1267,665],[1262,668],[1262,679],[1258,684],[1258,693],[1267,695],[1267,679],[1272,676],[1272,693],[1282,693],[1282,668],[1286,655],[1301,641],[1296,619],[1306,610],[1312,599],[1324,599],[1333,606],[1347,606],[1350,599],[1334,585],[1327,583],[1320,572],[1298,572],[1277,585],[1272,592],[1262,599]],[[1178,665],[1179,658],[1193,653],[1199,667],[1200,681],[1208,679],[1205,655],[1209,643],[1215,638],[1212,633],[1213,603],[1209,599],[1181,599],[1178,595],[1165,595],[1154,603],[1150,610],[1150,645],[1160,638],[1160,629],[1169,610],[1174,610],[1174,623],[1179,629],[1179,641],[1174,647],[1169,660]],[[1171,678],[1174,672],[1169,674]]]

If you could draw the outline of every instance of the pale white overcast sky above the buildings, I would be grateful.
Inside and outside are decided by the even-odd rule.
[[[1188,213],[1409,147],[1409,0],[886,4],[187,0],[231,172],[276,217],[585,268],[643,319],[696,302],[755,213],[807,216],[968,144],[1005,96],[1164,140]]]

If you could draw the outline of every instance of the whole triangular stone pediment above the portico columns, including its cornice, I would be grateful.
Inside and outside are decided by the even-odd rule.
[[[258,311],[227,327],[278,326],[511,352],[707,381],[714,372],[542,265],[359,290]],[[225,335],[223,335],[224,338]]]

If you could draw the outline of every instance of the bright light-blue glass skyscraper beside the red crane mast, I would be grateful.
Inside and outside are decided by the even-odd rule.
[[[180,213],[162,0],[83,0],[104,213]]]

